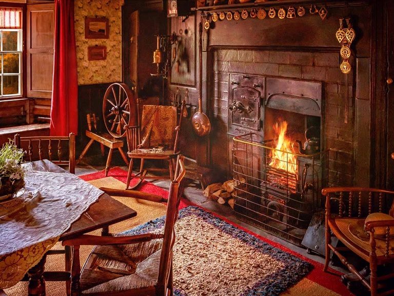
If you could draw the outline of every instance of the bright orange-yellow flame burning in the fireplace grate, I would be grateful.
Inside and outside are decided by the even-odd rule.
[[[293,152],[293,141],[286,137],[287,122],[276,123],[273,129],[278,135],[278,144],[272,149],[272,160],[269,165],[289,173],[297,173],[297,157]]]

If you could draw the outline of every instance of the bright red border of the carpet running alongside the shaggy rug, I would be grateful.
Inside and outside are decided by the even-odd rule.
[[[115,179],[117,179],[117,180],[119,180],[121,182],[126,183],[126,180],[125,180],[126,177],[124,176],[125,173],[127,174],[127,171],[125,171],[125,170],[123,170],[123,169],[121,169],[119,167],[113,167],[113,168],[111,168],[109,170],[107,177],[113,177],[113,178],[115,178]],[[85,181],[90,181],[90,180],[102,179],[102,178],[105,178],[106,176],[105,176],[105,170],[103,170],[103,171],[98,171],[98,172],[89,173],[89,174],[85,174],[85,175],[80,175],[79,177],[81,179],[85,180]],[[145,182],[145,184],[143,184],[142,187],[141,187],[142,191],[144,189],[144,186],[145,186],[145,189],[148,189],[150,187],[149,185],[151,185],[151,186],[154,186],[157,189],[160,189],[160,190],[157,190],[158,192],[155,192],[156,194],[159,193],[158,195],[161,195],[163,197],[167,197],[167,194],[168,194],[167,190],[165,190],[163,188],[160,188],[160,187],[158,187],[158,186],[156,186],[154,184],[151,184],[149,182],[146,182],[146,181],[144,181],[144,182]],[[148,188],[146,188],[147,186],[148,186]],[[305,276],[305,278],[307,278],[308,280],[311,280],[312,282],[315,282],[315,283],[317,283],[317,284],[319,284],[319,285],[321,285],[321,286],[323,286],[323,287],[325,287],[325,288],[327,288],[329,290],[332,290],[333,292],[336,292],[336,293],[338,293],[340,295],[353,296],[353,294],[350,293],[350,291],[346,288],[346,286],[343,285],[340,282],[340,275],[342,274],[341,272],[336,271],[336,270],[334,270],[332,268],[329,268],[329,272],[324,272],[323,271],[323,266],[324,265],[321,264],[320,262],[316,262],[316,261],[314,261],[314,260],[312,260],[312,259],[310,259],[308,257],[305,257],[304,255],[302,255],[300,253],[297,253],[297,252],[295,252],[293,250],[290,250],[290,249],[282,246],[279,243],[275,243],[275,242],[271,241],[270,239],[268,239],[268,238],[266,238],[264,236],[261,236],[261,235],[259,235],[257,233],[254,233],[254,232],[246,229],[245,227],[242,227],[242,226],[238,225],[237,223],[234,223],[233,221],[227,219],[226,217],[224,217],[222,215],[219,215],[219,214],[217,214],[215,212],[212,212],[210,210],[204,209],[200,205],[196,205],[193,202],[191,202],[191,201],[189,201],[189,200],[187,200],[185,198],[182,198],[180,209],[185,208],[187,206],[195,206],[195,207],[201,208],[204,211],[212,214],[213,216],[218,217],[218,218],[226,221],[228,224],[230,224],[232,226],[235,226],[235,227],[245,231],[246,233],[249,233],[249,234],[261,239],[263,242],[265,242],[267,244],[270,244],[270,245],[272,245],[272,246],[274,246],[274,247],[276,247],[278,249],[281,249],[282,251],[285,251],[287,253],[290,253],[290,254],[292,254],[294,256],[297,256],[297,257],[301,258],[302,260],[304,260],[304,261],[306,261],[306,262],[308,262],[308,263],[313,265],[312,271],[307,276]],[[335,280],[338,280],[338,285],[334,285],[333,286],[332,284],[334,283]]]

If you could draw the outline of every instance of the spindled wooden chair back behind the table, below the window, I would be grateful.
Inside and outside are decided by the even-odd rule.
[[[26,151],[25,161],[49,159],[60,166],[68,166],[70,173],[75,174],[75,134],[69,136],[14,136],[17,147]]]

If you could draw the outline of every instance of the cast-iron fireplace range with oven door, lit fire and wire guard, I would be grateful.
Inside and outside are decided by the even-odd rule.
[[[327,184],[323,83],[229,73],[228,87],[234,211],[301,245]]]

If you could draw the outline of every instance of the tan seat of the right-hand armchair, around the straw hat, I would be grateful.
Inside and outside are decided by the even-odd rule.
[[[356,252],[364,260],[369,260],[369,254],[371,251],[371,246],[369,244],[369,239],[360,238],[352,234],[349,230],[350,225],[361,223],[364,225],[365,219],[359,218],[332,218],[328,219],[328,225],[332,232],[345,244],[346,247]],[[354,246],[357,249],[354,250]],[[377,260],[380,259],[387,260],[385,257],[385,241],[384,239],[376,239],[376,254]],[[394,258],[394,241],[390,240],[389,247],[389,257]]]

